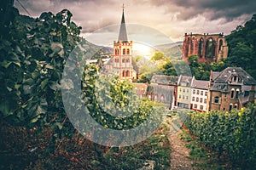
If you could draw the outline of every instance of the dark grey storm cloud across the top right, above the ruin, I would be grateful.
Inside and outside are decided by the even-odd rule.
[[[173,5],[177,6],[181,20],[189,20],[198,14],[204,14],[209,20],[233,20],[242,14],[256,13],[255,0],[150,0],[150,3],[166,6],[167,10],[176,10]]]

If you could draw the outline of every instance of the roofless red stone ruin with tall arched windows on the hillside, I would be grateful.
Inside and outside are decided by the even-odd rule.
[[[228,57],[228,44],[223,33],[192,34],[185,33],[183,40],[183,60],[188,60],[192,54],[198,56],[201,62],[217,62]]]

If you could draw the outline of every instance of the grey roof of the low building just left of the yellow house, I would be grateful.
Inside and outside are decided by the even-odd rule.
[[[154,75],[151,78],[151,83],[164,84],[164,85],[177,85],[178,77],[166,75]]]

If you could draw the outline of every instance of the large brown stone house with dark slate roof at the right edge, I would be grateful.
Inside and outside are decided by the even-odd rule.
[[[207,111],[240,110],[254,102],[256,81],[241,67],[211,71]]]

